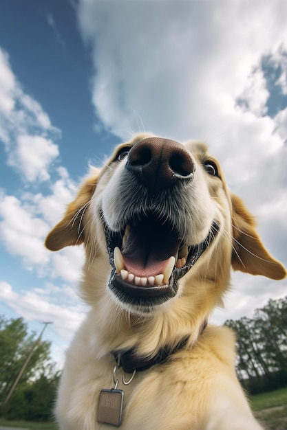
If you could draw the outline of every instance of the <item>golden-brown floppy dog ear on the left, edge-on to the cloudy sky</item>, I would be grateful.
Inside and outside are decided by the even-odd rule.
[[[47,235],[45,247],[50,251],[59,251],[64,247],[83,243],[83,214],[96,189],[99,172],[100,169],[93,168],[92,174],[78,190],[76,199],[68,205],[63,219]]]

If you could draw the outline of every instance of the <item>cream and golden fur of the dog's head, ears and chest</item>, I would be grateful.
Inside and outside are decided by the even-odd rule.
[[[125,146],[133,146],[138,135]],[[96,420],[98,395],[112,387],[115,361],[112,350],[137,348],[146,357],[165,345],[175,346],[189,335],[187,345],[166,363],[137,372],[123,386],[122,370],[116,377],[125,392],[122,429],[125,430],[256,430],[256,422],[235,374],[235,337],[226,327],[200,328],[228,289],[231,266],[273,279],[286,275],[262,245],[253,217],[244,203],[227,188],[219,164],[206,146],[189,143],[196,163],[190,210],[179,216],[187,223],[190,242],[200,242],[212,219],[220,231],[194,267],[180,280],[176,297],[150,315],[133,312],[107,288],[111,267],[98,209],[109,227],[116,224],[120,207],[125,160],[113,155],[103,169],[92,170],[81,185],[61,222],[47,236],[46,246],[56,251],[84,243],[81,296],[90,306],[81,328],[67,351],[56,416],[62,430],[107,429]],[[116,152],[118,151],[118,148]],[[115,154],[116,154],[115,152]],[[219,178],[206,174],[202,163],[217,163]],[[180,211],[178,207],[178,211]],[[187,233],[188,236],[188,233]],[[198,237],[197,237],[198,236]],[[129,375],[125,375],[128,379]],[[113,427],[110,427],[113,428]]]

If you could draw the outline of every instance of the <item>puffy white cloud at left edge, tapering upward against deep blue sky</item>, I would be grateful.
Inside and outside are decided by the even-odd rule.
[[[27,182],[49,180],[50,167],[59,157],[54,139],[60,135],[39,102],[22,90],[8,54],[0,48],[0,139],[8,165]]]

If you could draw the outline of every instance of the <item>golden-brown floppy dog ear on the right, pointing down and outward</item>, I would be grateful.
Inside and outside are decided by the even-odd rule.
[[[255,220],[243,201],[231,194],[233,207],[233,256],[234,270],[263,275],[279,280],[286,276],[286,269],[268,253],[255,229]]]

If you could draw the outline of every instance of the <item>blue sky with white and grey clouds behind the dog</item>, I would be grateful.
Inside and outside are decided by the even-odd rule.
[[[54,361],[87,307],[83,248],[45,236],[89,166],[149,131],[200,139],[287,266],[285,0],[0,3],[0,315],[23,317]],[[232,275],[211,321],[252,317],[287,282]]]

